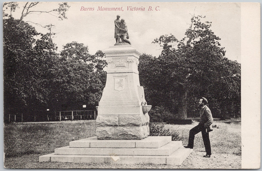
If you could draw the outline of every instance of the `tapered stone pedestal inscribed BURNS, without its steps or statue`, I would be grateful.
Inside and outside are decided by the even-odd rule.
[[[140,86],[138,59],[131,45],[103,50],[107,59],[107,81],[96,119],[98,139],[144,139],[149,135],[150,105]]]

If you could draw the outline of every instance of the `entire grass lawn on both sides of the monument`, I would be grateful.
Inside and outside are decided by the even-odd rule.
[[[197,125],[169,125],[179,132],[187,145],[189,130]],[[241,155],[241,122],[239,120],[214,121],[210,132],[213,153]],[[61,121],[49,123],[10,123],[4,125],[5,159],[24,155],[53,153],[55,148],[68,146],[70,141],[95,136],[95,121]],[[195,137],[194,151],[205,151],[201,133]],[[12,160],[12,159],[11,159]],[[5,160],[5,162],[8,160]]]

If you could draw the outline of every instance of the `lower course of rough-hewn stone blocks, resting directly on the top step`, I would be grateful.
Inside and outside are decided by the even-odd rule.
[[[149,126],[102,126],[96,128],[97,139],[144,139]]]

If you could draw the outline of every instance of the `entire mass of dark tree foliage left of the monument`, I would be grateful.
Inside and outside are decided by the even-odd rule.
[[[20,24],[19,24],[20,23]],[[3,20],[4,115],[24,114],[30,121],[46,110],[95,109],[102,95],[107,65],[98,50],[88,53],[82,43],[67,43],[57,51],[49,33],[12,17]],[[14,117],[14,116],[13,116]],[[40,116],[38,116],[39,118]]]

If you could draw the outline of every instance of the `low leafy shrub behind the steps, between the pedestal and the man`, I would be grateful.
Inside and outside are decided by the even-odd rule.
[[[182,141],[184,139],[179,136],[178,132],[164,128],[164,124],[157,125],[155,123],[149,123],[149,130],[149,136],[171,136],[172,141]]]

